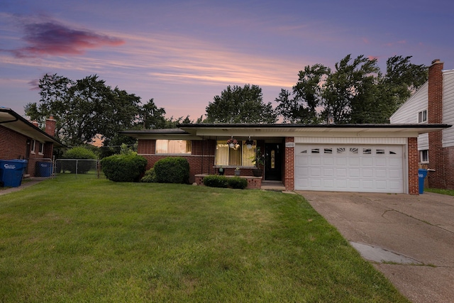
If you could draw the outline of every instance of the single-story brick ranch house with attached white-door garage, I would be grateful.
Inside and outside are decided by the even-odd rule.
[[[138,153],[153,167],[169,156],[187,158],[191,182],[223,167],[251,176],[255,148],[265,152],[264,182],[286,190],[419,194],[418,145],[421,133],[445,124],[182,124],[175,129],[122,131],[138,138]],[[236,148],[227,144],[238,141]],[[246,140],[252,140],[252,148]]]

